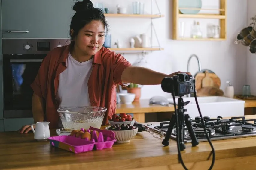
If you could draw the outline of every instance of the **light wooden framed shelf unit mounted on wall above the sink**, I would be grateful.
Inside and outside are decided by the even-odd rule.
[[[201,9],[201,8],[179,8],[179,0],[173,0],[173,30],[172,30],[172,39],[173,40],[202,40],[202,41],[224,41],[227,38],[226,28],[227,28],[227,19],[226,19],[226,8],[227,0],[219,0],[220,9]],[[217,10],[220,14],[182,14],[179,9],[190,9],[190,10]],[[220,38],[200,38],[194,39],[189,37],[180,38],[179,37],[179,18],[204,18],[204,19],[219,19],[220,20]]]

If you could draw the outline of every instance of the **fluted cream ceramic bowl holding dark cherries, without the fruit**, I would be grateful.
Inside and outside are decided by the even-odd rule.
[[[108,130],[110,126],[106,127],[105,129]],[[128,143],[131,139],[136,136],[138,132],[138,128],[132,130],[112,130],[115,133],[115,138],[117,139],[117,143]]]

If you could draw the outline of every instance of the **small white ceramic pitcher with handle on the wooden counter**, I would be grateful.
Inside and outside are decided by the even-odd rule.
[[[34,133],[34,139],[38,141],[46,141],[50,137],[50,122],[36,122],[36,124],[30,125]],[[33,125],[36,126],[34,129]]]

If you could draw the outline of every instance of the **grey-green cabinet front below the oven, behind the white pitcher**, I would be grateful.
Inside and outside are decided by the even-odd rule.
[[[17,131],[24,125],[30,125],[34,123],[33,118],[10,118],[4,119],[5,132],[7,131]]]

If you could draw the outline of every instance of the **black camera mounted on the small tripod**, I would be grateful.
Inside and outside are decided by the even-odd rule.
[[[184,96],[195,91],[195,79],[187,73],[178,73],[172,77],[165,77],[161,82],[161,87],[164,92],[172,93],[174,96]]]

